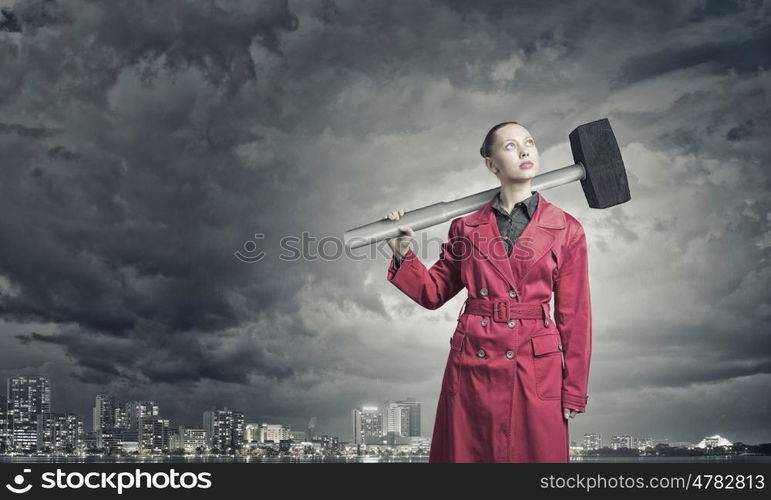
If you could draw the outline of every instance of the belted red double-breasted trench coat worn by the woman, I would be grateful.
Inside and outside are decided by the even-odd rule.
[[[539,192],[509,257],[492,203],[452,221],[430,269],[411,248],[398,270],[393,259],[388,269],[388,281],[428,309],[468,289],[450,339],[429,462],[568,462],[562,408],[583,412],[588,399],[586,236]],[[486,312],[496,302],[498,312]],[[517,304],[531,314],[518,315]],[[533,317],[539,307],[543,314]]]

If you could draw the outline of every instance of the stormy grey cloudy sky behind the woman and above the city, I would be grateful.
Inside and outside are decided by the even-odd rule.
[[[329,238],[495,187],[495,123],[528,127],[547,171],[607,117],[631,202],[543,192],[590,253],[572,439],[771,441],[768,1],[0,7],[3,383],[47,376],[89,426],[111,391],[175,424],[227,405],[343,440],[351,408],[412,396],[429,436],[466,292],[422,309],[386,246]],[[304,257],[282,249],[303,234]]]

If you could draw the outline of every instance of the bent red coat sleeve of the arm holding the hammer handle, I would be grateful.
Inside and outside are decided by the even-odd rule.
[[[426,269],[412,248],[408,248],[398,269],[394,265],[395,259],[391,259],[388,281],[426,309],[438,309],[464,287],[460,272],[461,252],[458,251],[460,223],[461,219],[455,219],[450,224],[439,260],[430,269]]]

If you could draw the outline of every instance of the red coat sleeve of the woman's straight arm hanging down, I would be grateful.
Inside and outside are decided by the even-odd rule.
[[[566,408],[584,412],[589,399],[592,304],[586,234],[580,223],[563,255],[563,263],[559,266],[554,284],[554,320],[565,356],[562,403]]]

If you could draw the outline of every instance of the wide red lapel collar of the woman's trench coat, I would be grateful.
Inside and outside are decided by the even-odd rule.
[[[527,272],[554,245],[557,230],[566,226],[564,212],[549,203],[540,192],[537,193],[535,213],[517,238],[511,256],[506,255],[506,244],[498,231],[492,208],[497,192],[482,208],[464,218],[464,224],[469,226],[466,237],[517,293],[521,292],[520,285]]]

